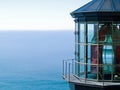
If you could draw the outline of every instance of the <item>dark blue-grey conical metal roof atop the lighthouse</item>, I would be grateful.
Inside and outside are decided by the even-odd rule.
[[[92,0],[71,13],[82,21],[118,21],[120,0]]]

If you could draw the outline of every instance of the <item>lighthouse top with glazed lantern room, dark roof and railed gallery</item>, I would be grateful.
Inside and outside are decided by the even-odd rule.
[[[120,0],[92,0],[71,16],[75,59],[63,61],[70,90],[120,90]]]

